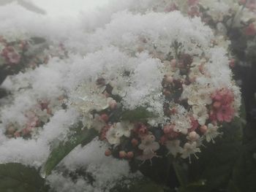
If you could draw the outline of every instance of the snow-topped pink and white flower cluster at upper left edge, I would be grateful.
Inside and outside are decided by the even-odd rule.
[[[67,57],[64,45],[53,46],[40,37],[8,38],[0,35],[0,67],[7,74],[25,72],[40,64],[48,64],[50,57]]]

